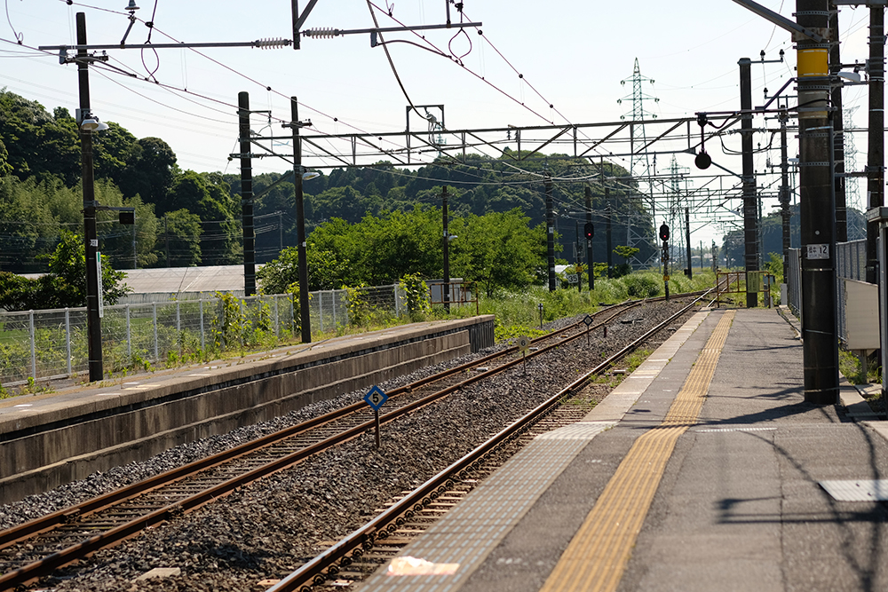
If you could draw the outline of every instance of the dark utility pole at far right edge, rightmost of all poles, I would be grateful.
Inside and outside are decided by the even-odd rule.
[[[884,4],[869,5],[869,144],[867,154],[867,209],[884,206]],[[878,282],[879,222],[867,224],[867,281]],[[883,320],[884,322],[884,320]]]

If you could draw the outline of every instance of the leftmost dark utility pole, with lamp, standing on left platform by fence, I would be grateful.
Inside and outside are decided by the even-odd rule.
[[[86,45],[86,14],[77,12],[77,45]],[[102,320],[99,314],[99,234],[96,228],[95,177],[92,170],[92,130],[83,128],[83,119],[91,114],[90,65],[85,49],[77,50],[77,81],[80,90],[80,162],[83,169],[83,233],[86,245],[86,320],[90,382],[102,380]]]

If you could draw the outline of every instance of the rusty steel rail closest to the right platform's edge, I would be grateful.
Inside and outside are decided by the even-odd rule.
[[[603,370],[610,367],[619,359],[622,359],[631,351],[636,350],[641,343],[644,343],[647,339],[650,339],[653,335],[662,331],[663,328],[668,327],[670,323],[674,322],[676,319],[680,318],[681,315],[693,308],[694,305],[708,293],[709,291],[698,296],[691,304],[688,304],[669,319],[662,321],[662,323],[649,330],[645,335],[642,335],[637,340],[624,347],[621,351],[616,352],[614,355],[601,362],[599,366],[594,367],[590,372],[576,379],[573,383],[568,384],[550,399],[547,399],[541,405],[535,407],[535,409],[519,418],[516,422],[512,422],[510,426],[489,438],[469,454],[465,454],[447,469],[440,471],[440,473],[427,480],[423,485],[417,487],[413,492],[408,493],[408,495],[400,501],[395,502],[384,512],[370,520],[366,525],[361,526],[361,528],[347,535],[343,540],[338,541],[337,544],[321,553],[321,555],[315,556],[311,561],[299,567],[295,572],[290,573],[289,576],[279,581],[272,588],[268,588],[266,592],[293,592],[302,586],[310,587],[312,585],[321,585],[327,580],[327,575],[323,573],[324,570],[328,570],[328,572],[331,568],[337,570],[337,562],[342,562],[344,559],[347,560],[349,554],[360,552],[358,549],[369,550],[372,548],[373,541],[387,538],[389,533],[393,533],[397,530],[397,520],[401,516],[411,511],[419,511],[425,506],[430,505],[432,500],[437,497],[438,493],[443,493],[447,490],[448,485],[452,485],[452,483],[455,482],[458,473],[471,467],[473,463],[479,462],[482,457],[494,450],[507,439],[527,430],[527,427],[530,424],[542,418],[545,414],[548,414],[554,407],[557,407],[567,395],[582,389],[591,378],[599,375]],[[329,572],[329,575],[335,574]]]

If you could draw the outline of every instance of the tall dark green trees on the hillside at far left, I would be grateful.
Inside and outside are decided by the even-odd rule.
[[[93,135],[96,199],[136,209],[134,226],[99,212],[99,248],[115,267],[240,261],[240,202],[222,176],[180,170],[163,139],[108,125]],[[60,231],[82,232],[81,171],[67,109],[0,91],[0,271],[45,272]]]

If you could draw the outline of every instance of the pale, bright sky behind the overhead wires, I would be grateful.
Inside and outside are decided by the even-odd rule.
[[[403,23],[437,24],[445,20],[444,0],[373,0],[381,27]],[[77,106],[76,68],[59,65],[54,55],[28,48],[74,43],[75,12],[85,12],[90,43],[119,43],[128,25],[128,0],[96,0],[68,5],[64,0],[4,0],[7,19],[0,20],[0,84],[9,91],[39,100],[44,107]],[[305,0],[301,2],[307,4]],[[765,0],[774,11],[792,18],[794,2]],[[143,0],[136,16],[153,20],[154,43],[252,41],[291,36],[289,0],[253,3],[217,0],[211,3]],[[659,99],[646,103],[660,118],[697,111],[739,107],[737,60],[776,59],[784,64],[754,64],[753,101],[762,103],[763,89],[775,91],[794,72],[795,55],[789,34],[730,0],[685,0],[663,3],[636,0],[622,3],[589,0],[466,0],[467,20],[482,21],[483,38],[467,29],[427,31],[427,39],[448,59],[408,43],[390,45],[400,79],[417,105],[444,104],[448,128],[487,128],[541,125],[547,121],[613,122],[630,113],[630,103],[617,100],[631,93],[635,59],[646,83],[646,94]],[[458,20],[451,5],[451,17]],[[867,57],[868,11],[843,7],[843,61]],[[306,28],[372,27],[366,0],[320,0]],[[137,22],[129,43],[144,43],[148,28]],[[20,36],[22,45],[15,42]],[[386,36],[421,39],[408,34]],[[109,50],[110,63],[137,73],[131,78],[91,72],[92,107],[103,120],[119,122],[137,137],[165,139],[183,169],[236,172],[227,155],[235,151],[239,91],[250,92],[253,109],[271,110],[271,127],[260,118],[253,129],[287,133],[290,96],[324,133],[353,130],[403,130],[407,99],[400,90],[384,51],[371,48],[368,35],[303,39],[293,51],[250,48]],[[519,73],[523,78],[519,78]],[[148,77],[163,83],[164,88]],[[483,80],[481,80],[483,77]],[[272,90],[267,91],[270,87]],[[178,89],[178,90],[176,90]],[[187,90],[187,92],[186,92]],[[845,107],[860,107],[855,124],[866,125],[866,87],[845,93]],[[523,103],[523,105],[522,105]],[[550,104],[554,109],[550,109]],[[334,121],[336,118],[337,121]],[[757,125],[764,126],[765,121]],[[730,144],[736,138],[728,138]],[[757,141],[766,143],[766,138]],[[737,139],[739,144],[739,139]],[[866,159],[866,138],[857,136],[859,169]],[[715,146],[708,146],[710,153]],[[284,151],[287,148],[282,148]],[[790,153],[794,152],[790,149]],[[778,153],[779,154],[779,153]],[[757,154],[757,170],[768,157]],[[739,162],[724,155],[729,167]],[[680,155],[681,166],[693,170],[693,157]],[[236,163],[236,162],[235,162]],[[622,163],[624,166],[626,163]],[[267,158],[257,172],[286,170],[286,162]],[[739,204],[738,204],[739,205]],[[702,223],[701,223],[702,224]],[[711,225],[703,234],[717,233]]]

